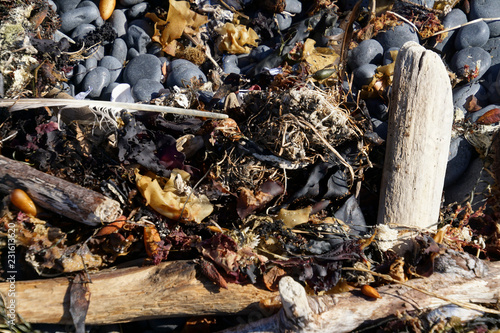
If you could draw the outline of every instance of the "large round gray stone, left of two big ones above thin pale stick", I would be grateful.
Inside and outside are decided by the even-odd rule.
[[[160,82],[160,59],[152,54],[140,54],[130,60],[123,71],[123,80],[131,86],[134,86],[140,79],[151,79]]]

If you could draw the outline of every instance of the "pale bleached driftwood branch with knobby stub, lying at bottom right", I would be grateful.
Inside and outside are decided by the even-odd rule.
[[[439,269],[426,279],[407,282],[416,288],[444,296],[463,303],[478,302],[496,304],[500,297],[500,262],[483,263],[467,254],[451,253],[438,259]],[[280,283],[280,295],[290,299],[300,295],[303,287],[288,279]],[[284,279],[285,279],[284,278]],[[285,287],[286,288],[283,288]],[[247,325],[240,325],[223,333],[271,333],[271,332],[351,332],[360,325],[375,324],[378,320],[405,311],[434,309],[451,304],[449,301],[424,294],[415,289],[397,284],[377,288],[382,296],[371,299],[359,291],[320,297],[296,297],[296,304],[283,302],[284,308],[277,314]],[[307,302],[305,304],[305,302]],[[472,304],[471,306],[474,306]],[[298,309],[298,311],[297,311]],[[471,310],[472,315],[483,313]],[[498,311],[497,311],[498,312]]]

